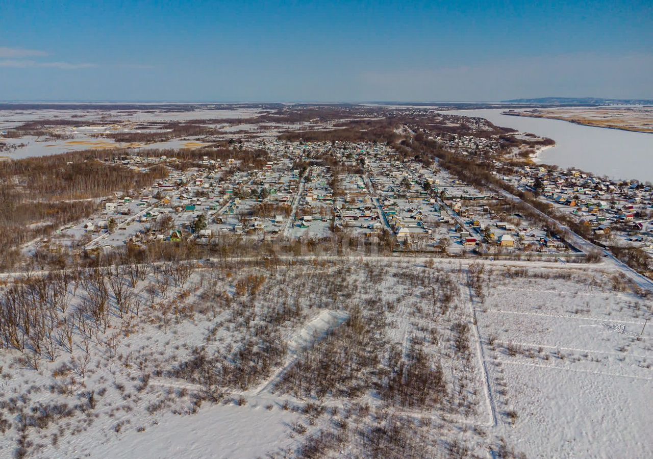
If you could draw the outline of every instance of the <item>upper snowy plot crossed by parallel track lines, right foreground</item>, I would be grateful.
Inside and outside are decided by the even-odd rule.
[[[485,342],[503,356],[535,353],[548,363],[616,364],[624,375],[645,375],[653,355],[646,330],[640,333],[650,300],[601,281],[582,274],[555,279],[549,288],[534,279],[496,281],[477,313]]]

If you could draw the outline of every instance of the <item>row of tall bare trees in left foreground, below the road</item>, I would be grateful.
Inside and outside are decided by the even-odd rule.
[[[21,351],[37,367],[40,358],[54,361],[62,350],[72,353],[74,336],[88,340],[106,333],[114,318],[128,332],[146,304],[136,289],[139,281],[151,274],[153,306],[155,299],[167,298],[170,287],[182,289],[193,269],[193,264],[177,260],[28,275],[1,292],[0,345]]]

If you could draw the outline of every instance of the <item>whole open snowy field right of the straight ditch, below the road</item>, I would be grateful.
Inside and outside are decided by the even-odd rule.
[[[600,274],[509,273],[475,304],[498,431],[529,457],[650,456],[650,300]]]

